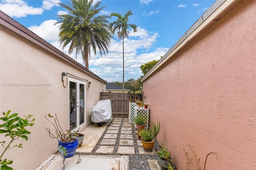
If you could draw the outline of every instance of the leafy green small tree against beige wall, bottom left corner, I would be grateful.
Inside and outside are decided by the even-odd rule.
[[[28,117],[26,117],[26,119],[22,119],[20,117],[18,117],[18,113],[13,113],[12,115],[10,115],[11,110],[7,111],[6,113],[2,113],[4,116],[0,117],[0,120],[2,120],[3,122],[5,122],[4,124],[0,125],[0,134],[1,133],[6,133],[5,137],[10,137],[11,140],[10,142],[8,142],[8,145],[6,146],[6,141],[1,141],[0,144],[1,146],[4,147],[4,152],[1,153],[0,156],[0,166],[1,166],[1,170],[12,170],[13,168],[9,167],[8,165],[12,164],[12,160],[7,160],[4,159],[2,160],[2,156],[4,155],[4,153],[14,147],[18,147],[18,148],[23,148],[22,144],[15,144],[13,146],[11,146],[12,142],[14,142],[14,140],[17,140],[18,138],[23,138],[25,140],[28,140],[28,134],[30,134],[29,131],[27,131],[25,129],[25,127],[30,126],[32,127],[34,125],[35,119],[30,120],[30,118],[33,115],[28,115]],[[3,128],[3,129],[2,129]]]

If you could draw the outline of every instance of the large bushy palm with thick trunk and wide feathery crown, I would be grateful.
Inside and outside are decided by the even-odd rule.
[[[77,54],[81,53],[85,67],[88,69],[91,49],[96,55],[96,49],[102,53],[108,53],[108,47],[112,42],[112,33],[109,30],[108,18],[110,16],[100,15],[99,12],[105,8],[99,7],[100,1],[92,5],[93,0],[71,0],[71,3],[62,4],[68,14],[58,15],[60,24],[59,42],[62,49],[69,45],[68,54],[74,50]]]

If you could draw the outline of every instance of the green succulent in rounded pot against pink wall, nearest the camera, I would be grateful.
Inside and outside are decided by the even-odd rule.
[[[171,152],[164,146],[164,142],[161,144],[161,150],[156,152],[156,158],[157,162],[163,167],[167,167],[167,164],[172,162]]]

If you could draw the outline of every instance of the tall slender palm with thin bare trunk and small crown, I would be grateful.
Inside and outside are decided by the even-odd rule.
[[[110,29],[113,34],[117,32],[117,37],[123,40],[123,93],[124,93],[124,38],[129,37],[129,28],[132,28],[134,32],[137,31],[137,26],[135,24],[129,24],[129,16],[133,15],[131,10],[128,10],[124,16],[119,13],[111,13],[110,17],[116,16],[117,20],[110,23]]]

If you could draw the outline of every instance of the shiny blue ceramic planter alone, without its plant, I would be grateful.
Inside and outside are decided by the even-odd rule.
[[[68,143],[60,142],[60,140],[58,141],[58,149],[64,158],[69,158],[76,153],[78,138],[75,136],[73,138],[76,140]]]

